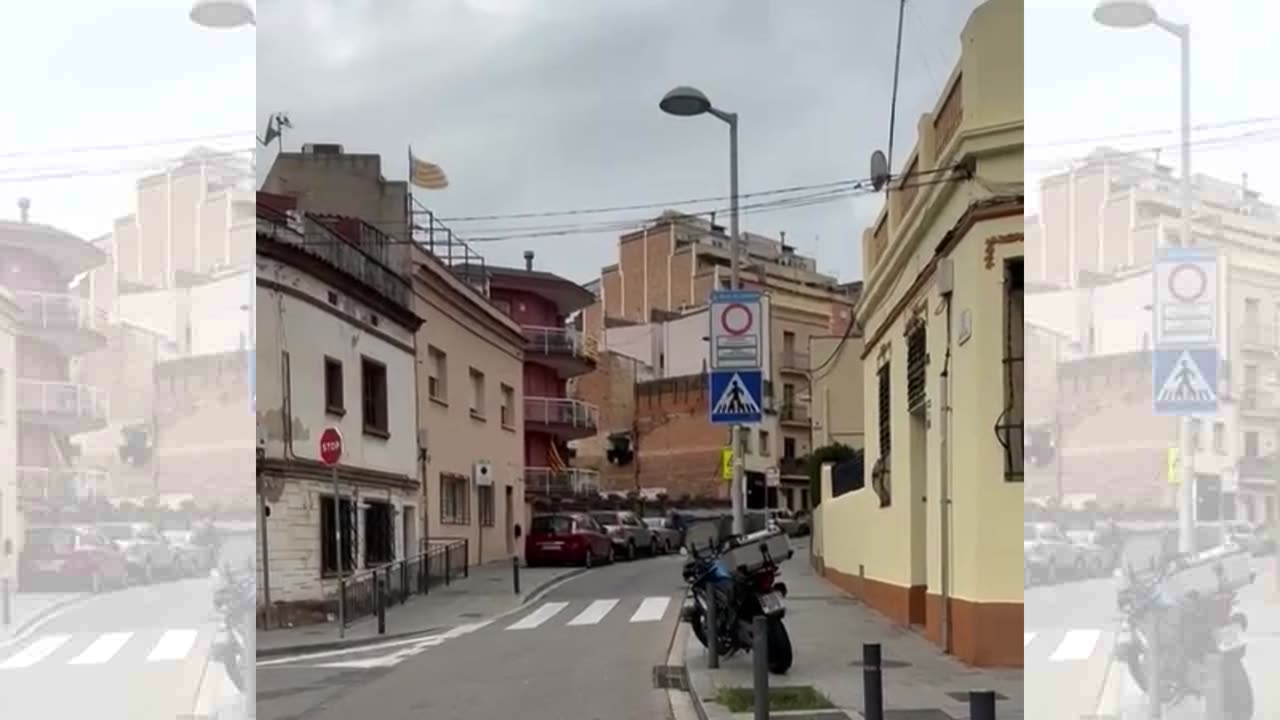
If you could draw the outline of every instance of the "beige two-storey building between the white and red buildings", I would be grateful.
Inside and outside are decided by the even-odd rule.
[[[466,538],[472,564],[522,555],[525,336],[435,256],[413,264],[428,538]]]

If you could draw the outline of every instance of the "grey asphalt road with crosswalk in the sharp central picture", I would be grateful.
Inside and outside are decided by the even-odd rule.
[[[260,661],[262,720],[666,720],[680,556],[596,568],[520,612],[361,652]],[[486,621],[488,620],[488,621]]]

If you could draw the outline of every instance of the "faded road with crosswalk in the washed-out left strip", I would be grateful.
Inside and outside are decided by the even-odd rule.
[[[225,550],[243,565],[252,538]],[[0,646],[0,716],[173,720],[192,710],[218,625],[209,578],[88,597]]]

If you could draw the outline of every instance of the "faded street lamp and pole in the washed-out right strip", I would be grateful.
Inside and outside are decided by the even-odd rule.
[[[1147,26],[1156,26],[1175,37],[1181,46],[1181,155],[1183,155],[1183,182],[1180,205],[1180,224],[1183,247],[1192,243],[1192,70],[1190,70],[1190,26],[1172,23],[1160,17],[1147,0],[1102,0],[1093,9],[1093,19],[1100,24],[1111,28],[1133,29]],[[1160,233],[1152,240],[1152,266],[1155,266],[1160,250]],[[1158,318],[1156,319],[1158,322]],[[1187,445],[1189,441],[1188,419],[1179,423],[1178,438],[1180,456],[1187,457]],[[1178,509],[1179,520],[1179,551],[1194,551],[1194,502],[1196,488],[1192,487],[1192,474],[1187,464],[1181,469],[1183,483],[1181,503]]]

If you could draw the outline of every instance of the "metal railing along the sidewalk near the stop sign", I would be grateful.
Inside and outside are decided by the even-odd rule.
[[[448,585],[470,574],[466,538],[431,541],[426,552],[394,560],[376,568],[357,570],[338,583],[342,593],[344,625],[378,614],[378,582],[383,580],[387,606],[403,605],[415,594],[430,594],[431,588]]]

